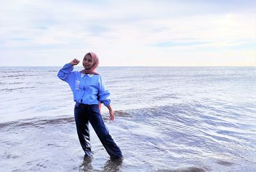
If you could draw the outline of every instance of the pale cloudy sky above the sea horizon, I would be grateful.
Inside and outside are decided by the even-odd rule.
[[[256,1],[0,0],[0,66],[256,66]],[[82,66],[79,63],[78,66]]]

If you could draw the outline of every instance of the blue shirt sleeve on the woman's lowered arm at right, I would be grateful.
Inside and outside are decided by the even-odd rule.
[[[109,91],[106,88],[106,85],[102,81],[102,78],[99,77],[99,100],[100,103],[104,104],[104,106],[109,106],[111,100],[109,99]]]

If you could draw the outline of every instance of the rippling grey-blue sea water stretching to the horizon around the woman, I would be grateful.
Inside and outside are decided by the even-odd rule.
[[[99,67],[122,162],[92,127],[83,159],[60,68],[0,67],[0,171],[256,171],[255,67]]]

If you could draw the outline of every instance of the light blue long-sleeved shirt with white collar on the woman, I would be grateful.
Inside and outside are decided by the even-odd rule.
[[[74,101],[81,104],[104,104],[108,106],[110,93],[106,89],[100,75],[82,74],[79,71],[74,71],[74,66],[67,63],[58,72],[58,77],[68,82],[73,95]]]

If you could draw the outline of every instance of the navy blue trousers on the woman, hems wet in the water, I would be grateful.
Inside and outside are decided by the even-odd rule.
[[[99,105],[76,104],[74,114],[79,141],[86,156],[92,156],[89,131],[90,122],[109,156],[112,159],[123,157],[120,148],[116,145],[111,134],[109,134],[108,127],[104,124],[99,112]]]

